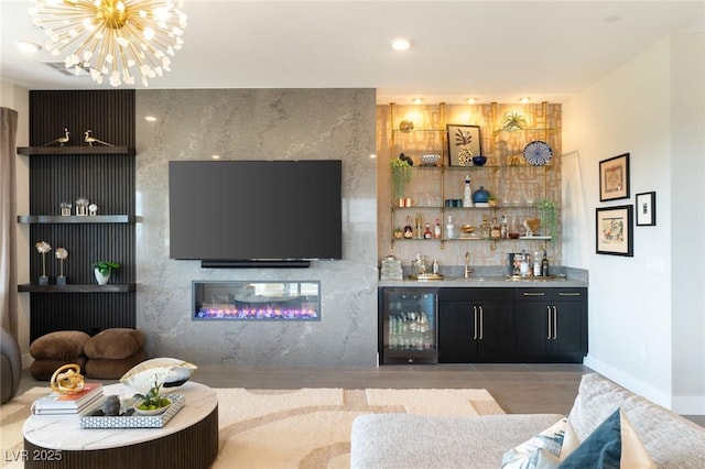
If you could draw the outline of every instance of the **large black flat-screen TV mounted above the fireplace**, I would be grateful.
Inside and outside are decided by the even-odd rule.
[[[340,161],[171,161],[170,257],[340,259]]]

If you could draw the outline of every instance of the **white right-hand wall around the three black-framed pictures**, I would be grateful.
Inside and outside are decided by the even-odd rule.
[[[586,364],[690,414],[705,414],[704,63],[702,33],[665,39],[563,106],[563,150],[575,160],[564,170],[574,185],[564,222],[581,227],[564,239],[563,260],[589,270]],[[599,162],[621,153],[630,198],[600,203]],[[651,190],[657,226],[632,227],[633,258],[596,254],[595,208]]]

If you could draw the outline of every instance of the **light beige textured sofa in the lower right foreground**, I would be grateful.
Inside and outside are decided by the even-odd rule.
[[[583,377],[570,422],[581,441],[621,408],[659,468],[705,468],[705,428],[598,374]],[[502,455],[562,415],[367,414],[352,423],[350,467],[499,468]]]

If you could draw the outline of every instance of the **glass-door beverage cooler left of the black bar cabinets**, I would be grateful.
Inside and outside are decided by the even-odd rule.
[[[380,288],[380,364],[437,363],[437,288]]]

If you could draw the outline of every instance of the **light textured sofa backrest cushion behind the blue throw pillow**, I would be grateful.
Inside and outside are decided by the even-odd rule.
[[[705,428],[596,373],[583,377],[568,422],[583,441],[617,408],[659,468],[705,468]]]

